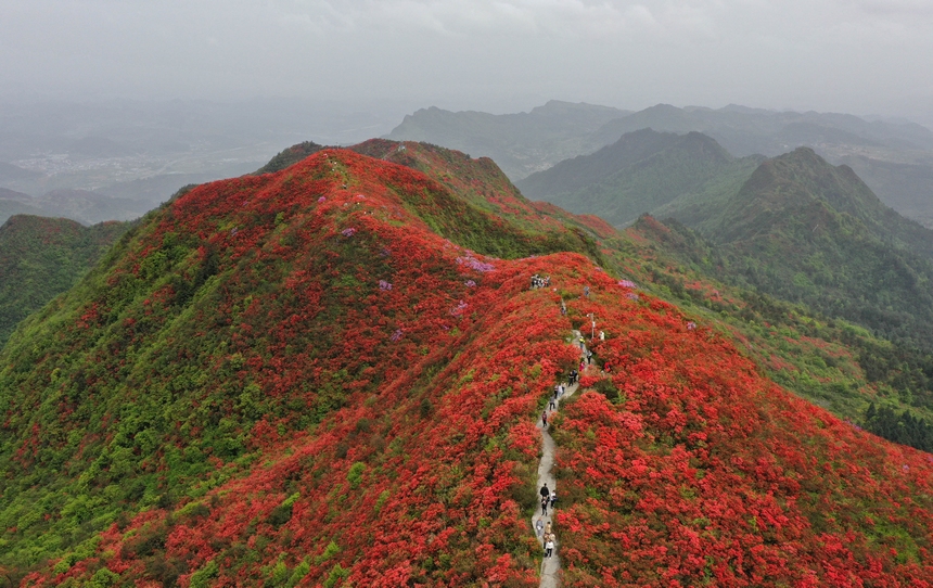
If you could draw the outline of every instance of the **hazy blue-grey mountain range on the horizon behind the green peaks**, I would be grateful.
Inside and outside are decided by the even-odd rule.
[[[562,119],[580,123],[564,125]],[[516,128],[519,123],[522,126]],[[387,137],[486,155],[499,162],[513,181],[521,181],[644,128],[680,135],[702,132],[738,157],[776,156],[809,146],[833,164],[853,167],[895,210],[933,226],[933,131],[911,123],[737,105],[712,110],[659,104],[628,113],[551,102],[517,115],[422,110],[407,116]],[[619,212],[619,216],[628,215]]]

